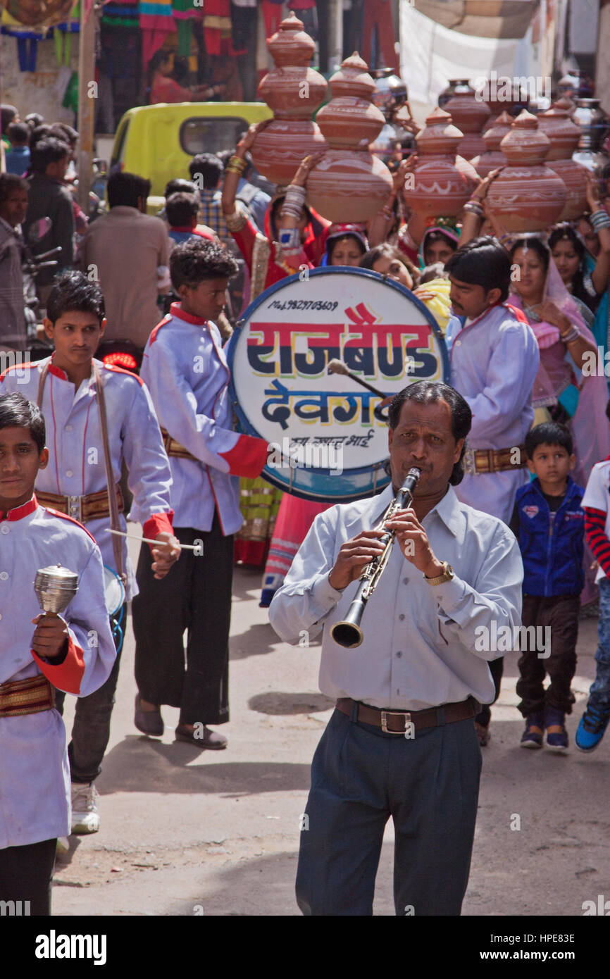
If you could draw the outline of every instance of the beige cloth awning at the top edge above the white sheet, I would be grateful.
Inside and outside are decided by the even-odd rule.
[[[410,6],[461,34],[509,39],[524,36],[539,0],[413,0]]]

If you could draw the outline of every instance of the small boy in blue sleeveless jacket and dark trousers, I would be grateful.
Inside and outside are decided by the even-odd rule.
[[[550,629],[550,652],[546,643],[542,651],[536,648],[539,643],[528,642],[530,648],[519,660],[519,710],[526,719],[521,746],[541,748],[546,728],[547,746],[563,753],[568,747],[565,715],[572,713],[575,699],[570,684],[585,584],[585,490],[570,476],[576,458],[564,425],[537,425],[526,436],[525,447],[536,478],[517,490],[510,527],[523,558],[522,623]],[[534,634],[538,636],[538,629]],[[545,674],[550,679],[546,690]]]

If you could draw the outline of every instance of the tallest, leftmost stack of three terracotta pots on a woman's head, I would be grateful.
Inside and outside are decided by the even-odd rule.
[[[311,115],[326,97],[326,81],[309,68],[315,45],[294,15],[280,23],[267,40],[275,69],[258,85],[258,96],[273,112],[273,121],[258,133],[252,157],[272,183],[288,184],[308,154],[326,149]]]

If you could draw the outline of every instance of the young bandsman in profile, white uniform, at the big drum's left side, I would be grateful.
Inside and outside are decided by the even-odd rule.
[[[176,738],[217,750],[226,738],[208,724],[229,720],[233,535],[242,525],[237,477],[258,476],[268,449],[262,439],[232,431],[229,369],[212,322],[237,264],[224,249],[200,239],[177,245],[169,269],[180,303],[153,330],[142,377],[166,430],[176,536],[186,544],[200,540],[203,554],[185,551],[171,574],[156,582],[150,555],[140,552],[133,631],[143,710],[135,722],[161,735],[160,706],[179,707]]]

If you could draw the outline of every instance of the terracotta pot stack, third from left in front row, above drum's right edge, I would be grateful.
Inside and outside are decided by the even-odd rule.
[[[413,171],[413,187],[404,191],[413,210],[454,217],[464,207],[478,178],[471,163],[455,156],[462,136],[443,109],[435,109],[426,119],[415,137],[419,163]]]

